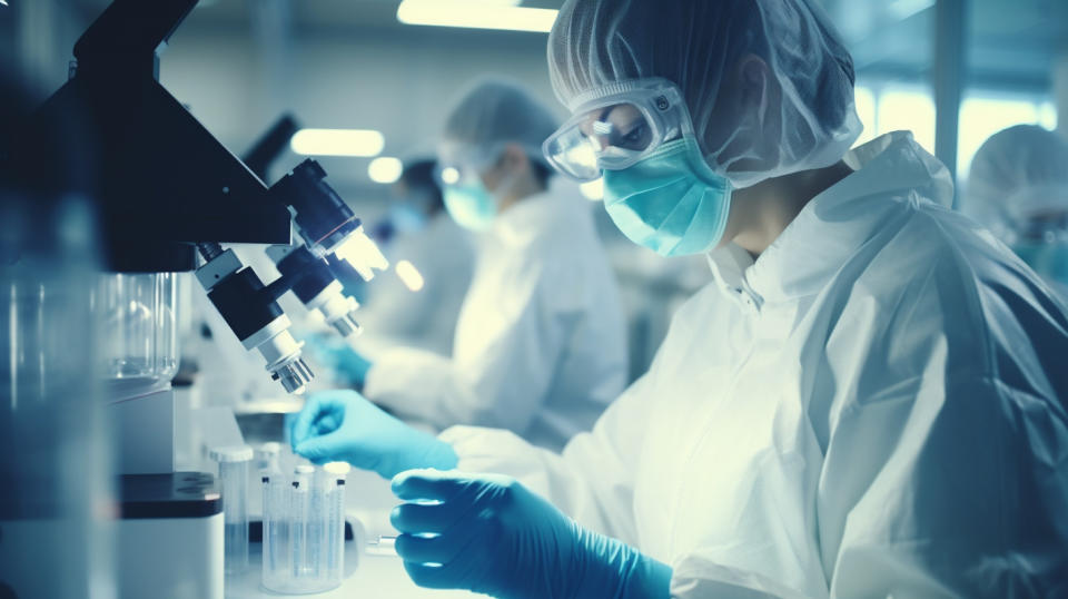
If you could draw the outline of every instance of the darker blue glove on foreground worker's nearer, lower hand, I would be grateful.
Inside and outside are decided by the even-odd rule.
[[[537,599],[670,595],[670,567],[585,530],[507,477],[418,470],[393,479],[393,492],[414,501],[389,520],[421,587]]]

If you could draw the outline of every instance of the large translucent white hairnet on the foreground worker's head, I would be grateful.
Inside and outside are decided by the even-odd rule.
[[[773,106],[765,91],[765,106],[724,131],[720,87],[746,55],[769,65],[782,99]],[[862,129],[852,58],[811,0],[567,0],[548,66],[572,111],[577,96],[607,84],[671,80],[710,166],[735,187],[830,166]]]

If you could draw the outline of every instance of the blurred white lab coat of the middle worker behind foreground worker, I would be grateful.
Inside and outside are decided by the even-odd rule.
[[[592,205],[563,181],[520,200],[482,236],[453,355],[380,354],[364,394],[438,428],[510,429],[560,449],[626,385],[619,288]]]

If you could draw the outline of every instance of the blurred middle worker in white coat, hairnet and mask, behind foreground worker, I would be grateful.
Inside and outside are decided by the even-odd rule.
[[[551,185],[541,143],[557,121],[530,92],[486,80],[448,118],[448,214],[477,235],[451,356],[413,347],[356,362],[356,389],[439,429],[508,429],[561,449],[626,385],[619,288],[576,185]],[[344,367],[344,366],[343,366]]]

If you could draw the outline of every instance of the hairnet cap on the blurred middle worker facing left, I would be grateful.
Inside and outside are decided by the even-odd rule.
[[[542,143],[558,121],[516,82],[484,79],[459,100],[445,122],[443,161],[492,160],[506,144],[518,144],[532,160],[547,166]]]

